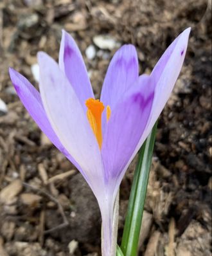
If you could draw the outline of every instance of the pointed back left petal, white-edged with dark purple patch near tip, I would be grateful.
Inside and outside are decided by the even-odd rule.
[[[59,66],[64,71],[75,90],[84,111],[87,111],[85,100],[94,98],[91,82],[87,75],[84,60],[76,42],[65,30],[62,30],[60,43]]]

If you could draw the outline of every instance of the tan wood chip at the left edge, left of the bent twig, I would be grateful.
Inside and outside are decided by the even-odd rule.
[[[22,190],[22,182],[20,179],[15,179],[10,185],[6,186],[0,192],[0,201],[3,203],[10,202]]]

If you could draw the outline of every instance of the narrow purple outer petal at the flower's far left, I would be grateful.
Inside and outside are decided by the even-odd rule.
[[[15,71],[15,69],[9,69],[10,78],[12,80],[12,84],[15,87],[15,91],[19,96],[22,104],[30,113],[31,117],[37,125],[39,126],[40,130],[48,136],[49,140],[57,147],[57,149],[66,156],[66,158],[71,161],[78,170],[82,173],[85,179],[87,176],[84,174],[83,170],[80,168],[78,163],[70,156],[67,150],[64,148],[60,140],[58,139],[57,135],[51,128],[51,124],[46,116],[46,112],[42,105],[42,101],[40,98],[40,93],[31,85],[31,83],[22,76],[19,72]]]

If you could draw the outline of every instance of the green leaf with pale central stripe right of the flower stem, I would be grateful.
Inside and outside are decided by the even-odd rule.
[[[157,122],[139,150],[139,157],[132,182],[127,217],[125,219],[121,241],[121,251],[125,256],[137,255],[137,245],[141,230],[141,221],[145,206],[146,190],[152,163],[156,131]]]

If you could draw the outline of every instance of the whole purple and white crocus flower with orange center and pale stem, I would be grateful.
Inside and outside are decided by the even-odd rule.
[[[94,99],[82,55],[62,31],[59,62],[38,53],[39,91],[10,68],[17,95],[49,140],[82,173],[102,214],[103,255],[110,255],[114,201],[130,161],[150,133],[179,76],[190,28],[184,30],[150,75],[140,75],[134,46],[112,58],[100,100]]]

